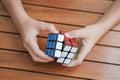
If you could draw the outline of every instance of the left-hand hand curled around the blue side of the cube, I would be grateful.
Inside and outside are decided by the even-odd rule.
[[[25,48],[29,51],[35,62],[49,62],[54,60],[41,51],[37,44],[37,34],[40,33],[40,31],[48,30],[53,33],[58,33],[53,24],[27,19],[19,25],[18,30],[22,35]]]

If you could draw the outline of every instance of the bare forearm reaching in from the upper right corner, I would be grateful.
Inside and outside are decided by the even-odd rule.
[[[106,11],[104,16],[97,22],[100,28],[108,31],[118,21],[120,21],[120,0],[116,0],[115,3]]]

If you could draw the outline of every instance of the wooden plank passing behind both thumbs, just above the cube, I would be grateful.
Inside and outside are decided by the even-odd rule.
[[[5,22],[3,21],[4,18],[0,19],[1,22],[1,28],[0,31],[8,31],[8,32],[17,32],[15,30],[15,27],[12,26],[11,22],[6,20]],[[10,25],[9,25],[10,24]],[[9,27],[9,28],[7,28]],[[66,25],[56,25],[58,30],[61,31],[70,31],[74,29],[79,29],[79,27],[74,27],[74,26],[66,26]],[[120,26],[119,26],[120,27]],[[48,32],[42,32],[39,36],[47,36]],[[114,31],[109,31],[99,42],[98,44],[103,44],[103,45],[112,45],[112,46],[118,46],[120,47],[120,32],[114,32]]]

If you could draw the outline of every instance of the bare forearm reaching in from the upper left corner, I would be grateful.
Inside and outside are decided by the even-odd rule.
[[[20,25],[23,21],[29,18],[22,6],[21,0],[2,0],[2,2],[15,25]]]

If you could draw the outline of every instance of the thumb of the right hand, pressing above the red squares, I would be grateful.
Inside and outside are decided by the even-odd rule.
[[[85,38],[86,31],[84,29],[72,30],[65,33],[65,36],[68,38]]]

